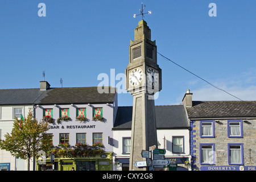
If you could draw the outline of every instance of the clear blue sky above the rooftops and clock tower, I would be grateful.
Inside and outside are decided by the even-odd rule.
[[[46,4],[46,17],[38,4]],[[217,16],[210,17],[209,3]],[[100,73],[125,73],[142,1],[0,1],[0,89],[97,86]],[[145,0],[158,52],[241,100],[256,100],[255,0]],[[163,89],[156,105],[193,100],[237,100],[158,55]],[[115,81],[117,84],[119,81]],[[133,105],[129,93],[119,106]]]

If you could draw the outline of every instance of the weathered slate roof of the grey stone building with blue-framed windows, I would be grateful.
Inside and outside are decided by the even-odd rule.
[[[188,118],[256,117],[256,101],[192,101]]]

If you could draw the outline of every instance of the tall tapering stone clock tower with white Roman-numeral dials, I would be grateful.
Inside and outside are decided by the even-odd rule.
[[[151,30],[143,19],[134,30],[134,41],[130,41],[125,73],[126,90],[133,95],[129,169],[146,170],[135,167],[135,162],[146,160],[141,151],[158,144],[154,94],[162,89],[162,70],[157,64],[155,40],[151,41]]]

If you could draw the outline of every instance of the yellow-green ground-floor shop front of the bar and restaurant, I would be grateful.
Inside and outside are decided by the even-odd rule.
[[[111,171],[113,152],[104,152],[91,156],[77,156],[76,158],[55,158],[54,170],[71,171],[72,167],[76,171]],[[53,169],[51,158],[42,156],[36,165],[37,171],[49,171]]]

